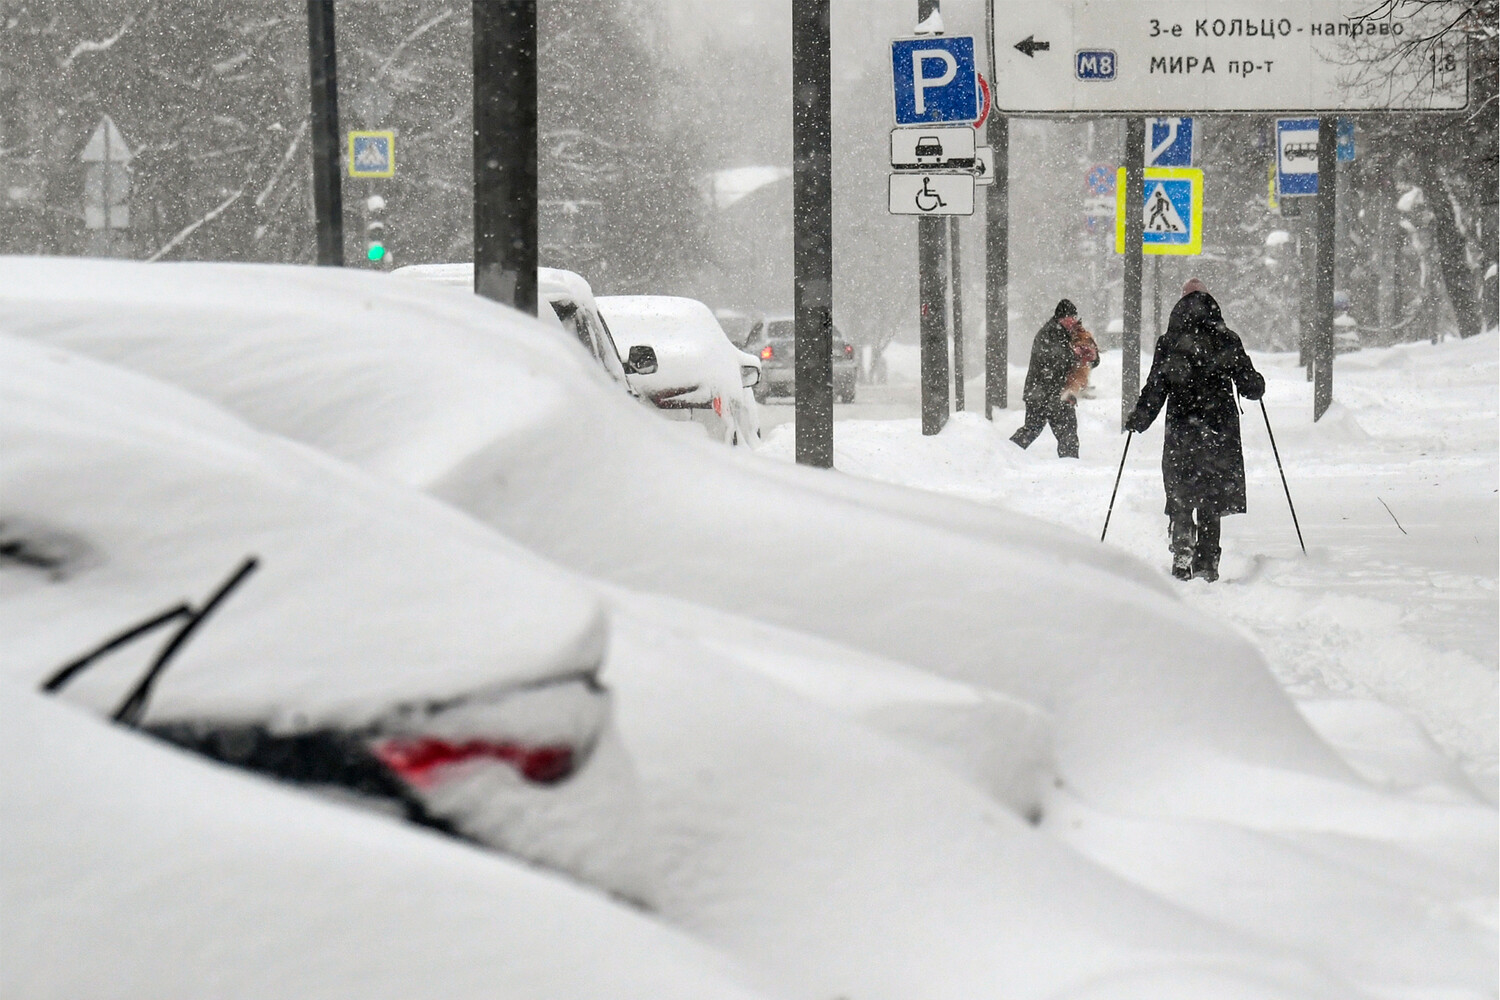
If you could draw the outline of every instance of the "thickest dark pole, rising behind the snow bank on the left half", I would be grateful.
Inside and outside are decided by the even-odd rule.
[[[536,0],[474,0],[474,291],[537,313]]]

